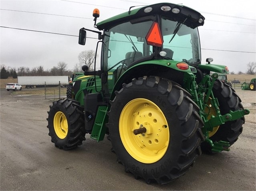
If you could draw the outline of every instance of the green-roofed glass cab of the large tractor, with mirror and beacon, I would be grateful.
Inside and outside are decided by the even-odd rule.
[[[95,22],[99,17],[99,11],[96,12]],[[201,63],[197,27],[203,24],[200,13],[170,3],[129,10],[96,24],[96,28],[103,30],[102,34],[97,32],[102,50],[101,71],[96,75],[102,76],[105,97],[110,96],[117,82],[119,88],[134,77],[162,71],[175,77],[182,71],[196,72],[193,66]],[[85,43],[85,30],[80,30],[80,44]],[[180,81],[181,78],[182,75]]]

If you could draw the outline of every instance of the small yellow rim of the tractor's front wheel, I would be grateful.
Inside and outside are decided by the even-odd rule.
[[[58,111],[53,118],[54,131],[58,138],[64,139],[68,134],[68,121],[64,113]]]

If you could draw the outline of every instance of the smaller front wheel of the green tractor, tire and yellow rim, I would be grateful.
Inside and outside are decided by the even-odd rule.
[[[85,120],[83,107],[73,99],[54,101],[48,112],[49,136],[56,147],[69,150],[85,140]]]

